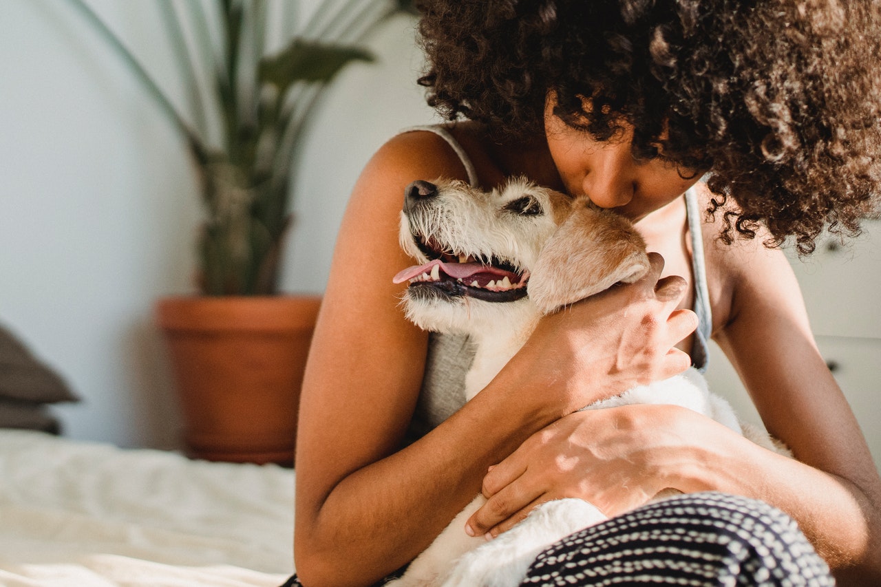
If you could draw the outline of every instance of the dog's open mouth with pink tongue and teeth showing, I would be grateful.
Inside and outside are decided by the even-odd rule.
[[[404,269],[395,276],[395,283],[409,281],[411,289],[431,288],[434,294],[483,301],[515,301],[526,296],[529,271],[496,256],[471,256],[433,240],[414,238],[429,262]]]

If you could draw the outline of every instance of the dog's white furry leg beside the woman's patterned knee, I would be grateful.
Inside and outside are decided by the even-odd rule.
[[[511,530],[463,554],[443,587],[516,587],[544,549],[605,519],[599,509],[582,500],[544,503]]]

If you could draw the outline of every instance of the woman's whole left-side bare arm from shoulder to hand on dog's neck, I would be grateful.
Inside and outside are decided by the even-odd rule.
[[[477,494],[487,467],[533,432],[637,379],[685,368],[682,353],[667,350],[693,317],[672,311],[670,292],[655,299],[654,283],[621,287],[576,305],[568,322],[544,324],[477,398],[400,450],[426,334],[404,320],[401,286],[391,283],[409,264],[397,217],[404,187],[438,175],[464,175],[440,139],[396,137],[366,167],[344,218],[300,407],[294,544],[310,587],[366,585],[401,567]],[[626,360],[602,342],[610,334],[627,338]]]

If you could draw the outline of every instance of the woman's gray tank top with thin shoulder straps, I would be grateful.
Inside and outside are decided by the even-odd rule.
[[[404,130],[427,130],[442,137],[462,160],[470,185],[478,186],[478,175],[468,153],[443,126],[417,126]],[[704,245],[700,232],[700,208],[693,189],[685,192],[685,210],[689,232],[692,235],[692,273],[694,276],[694,312],[700,321],[692,346],[692,365],[701,372],[707,370],[709,359],[707,341],[713,328],[713,318],[707,294],[707,271],[704,264]],[[428,337],[426,371],[413,420],[407,433],[415,441],[436,427],[465,405],[465,374],[474,360],[474,346],[466,335],[432,332]]]

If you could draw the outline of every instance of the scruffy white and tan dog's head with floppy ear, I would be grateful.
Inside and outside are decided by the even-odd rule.
[[[471,332],[549,312],[648,270],[645,245],[626,220],[523,179],[489,192],[413,182],[400,239],[418,264],[395,282],[410,282],[407,317],[430,331]]]

